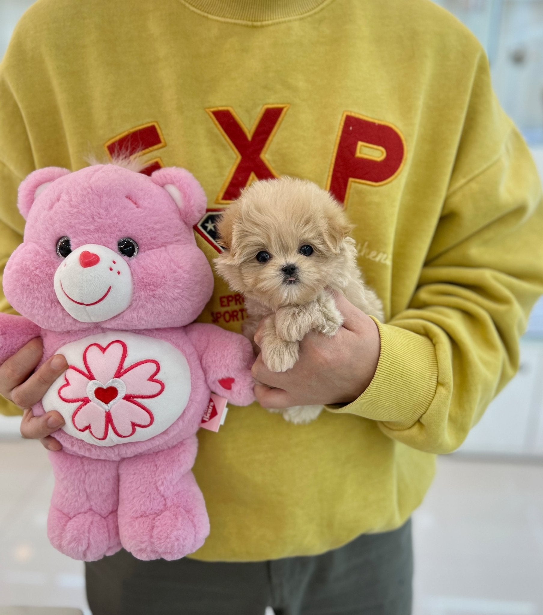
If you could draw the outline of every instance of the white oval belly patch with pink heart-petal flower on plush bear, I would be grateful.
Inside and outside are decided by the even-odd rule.
[[[62,429],[90,444],[161,434],[191,394],[187,360],[162,339],[111,331],[65,344],[55,354],[63,354],[69,368],[44,395],[44,410],[58,410]]]

